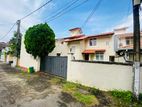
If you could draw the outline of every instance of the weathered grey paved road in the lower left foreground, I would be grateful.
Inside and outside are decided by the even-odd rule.
[[[0,62],[0,107],[82,107],[49,76],[22,74]]]

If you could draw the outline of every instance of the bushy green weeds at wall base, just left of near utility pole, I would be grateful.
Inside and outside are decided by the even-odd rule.
[[[113,90],[111,91],[113,97],[116,97],[124,102],[131,103],[133,100],[133,94],[131,91],[120,91],[120,90]]]

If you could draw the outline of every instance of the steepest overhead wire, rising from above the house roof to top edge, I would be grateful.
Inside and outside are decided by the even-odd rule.
[[[87,24],[87,22],[91,19],[91,17],[94,15],[94,13],[96,12],[96,10],[99,8],[99,6],[102,3],[102,1],[103,0],[98,0],[98,2],[94,5],[94,8],[92,9],[91,13],[87,17],[87,19],[85,20],[85,22],[83,23],[83,25],[82,25],[81,28],[83,28]]]

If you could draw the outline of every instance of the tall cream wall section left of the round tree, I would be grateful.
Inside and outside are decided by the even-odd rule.
[[[35,71],[40,70],[40,59],[34,57],[26,52],[24,44],[24,36],[22,37],[21,52],[20,52],[20,66],[21,67],[34,67]]]

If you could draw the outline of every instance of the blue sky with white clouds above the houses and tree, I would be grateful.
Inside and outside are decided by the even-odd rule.
[[[8,42],[13,36],[13,32],[17,30],[17,26],[5,36],[13,23],[37,9],[47,1],[48,0],[1,0],[0,42]],[[100,5],[97,5],[97,7],[96,4],[99,0],[88,0],[81,6],[73,8],[85,1],[78,0],[72,7],[70,7],[70,11],[65,9],[68,12],[60,17],[53,18],[54,20],[52,21],[49,21],[49,18],[55,15],[60,8],[65,8],[67,3],[73,1],[74,0],[53,0],[39,11],[22,20],[21,32],[24,35],[29,27],[47,22],[53,29],[56,38],[68,37],[70,36],[69,29],[82,27],[94,7],[95,12],[93,16],[82,27],[82,31],[85,35],[111,32],[113,29],[121,27],[128,27],[128,32],[132,32],[132,0],[101,0]],[[142,20],[141,17],[140,20]]]

